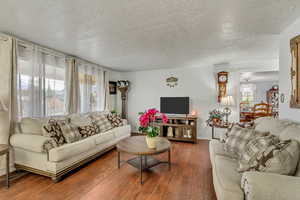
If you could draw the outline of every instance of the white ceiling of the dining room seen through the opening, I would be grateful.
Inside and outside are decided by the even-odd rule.
[[[276,82],[279,81],[278,71],[265,72],[243,72],[240,75],[240,82]]]

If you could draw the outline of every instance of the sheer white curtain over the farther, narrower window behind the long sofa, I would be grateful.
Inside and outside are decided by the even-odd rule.
[[[104,110],[105,84],[104,71],[95,64],[76,60],[79,73],[80,112]]]

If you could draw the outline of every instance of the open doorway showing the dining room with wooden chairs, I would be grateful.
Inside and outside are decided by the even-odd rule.
[[[240,122],[252,122],[259,117],[278,117],[279,72],[241,72]]]

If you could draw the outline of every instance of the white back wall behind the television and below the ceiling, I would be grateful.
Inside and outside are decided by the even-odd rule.
[[[138,71],[122,75],[131,82],[128,92],[128,119],[133,131],[138,129],[138,112],[148,108],[159,110],[160,97],[189,96],[190,110],[198,112],[198,137],[211,138],[211,129],[206,126],[205,120],[208,112],[218,107],[213,67]],[[166,78],[170,76],[179,79],[178,86],[170,88],[166,85]]]

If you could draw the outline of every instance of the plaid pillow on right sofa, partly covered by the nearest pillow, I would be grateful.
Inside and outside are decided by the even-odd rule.
[[[256,157],[262,153],[271,144],[279,142],[278,137],[274,135],[262,136],[253,138],[248,142],[246,147],[241,152],[239,159],[238,171],[244,172],[250,170],[256,163]]]

